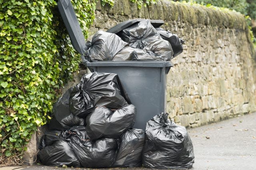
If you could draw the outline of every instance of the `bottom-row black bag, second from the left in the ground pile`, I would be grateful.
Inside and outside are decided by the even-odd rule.
[[[92,141],[86,134],[86,128],[82,126],[66,130],[63,136],[69,141],[82,167],[110,167],[116,158],[118,150],[116,139],[100,138]]]

